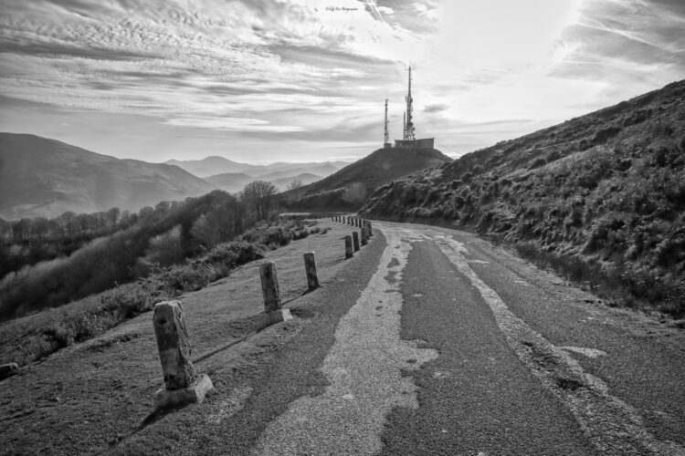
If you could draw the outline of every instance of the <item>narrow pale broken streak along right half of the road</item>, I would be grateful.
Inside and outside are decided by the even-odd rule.
[[[645,428],[638,410],[611,396],[601,378],[588,374],[571,355],[554,346],[515,316],[490,286],[470,268],[464,244],[435,236],[436,244],[458,271],[467,276],[490,306],[507,344],[522,363],[564,401],[595,448],[610,454],[683,455],[677,442],[658,440]],[[542,361],[542,362],[541,362]]]

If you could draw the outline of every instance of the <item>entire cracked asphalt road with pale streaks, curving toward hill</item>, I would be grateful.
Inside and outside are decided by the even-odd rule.
[[[374,228],[252,379],[232,454],[685,454],[678,329],[468,233]]]

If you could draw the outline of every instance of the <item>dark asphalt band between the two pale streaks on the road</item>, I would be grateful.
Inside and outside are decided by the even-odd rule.
[[[388,416],[383,454],[595,453],[435,244],[414,245],[404,277],[402,337],[425,340],[439,356],[409,373],[419,408]]]

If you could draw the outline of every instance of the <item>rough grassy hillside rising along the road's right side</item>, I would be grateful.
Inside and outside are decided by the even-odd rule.
[[[378,189],[366,215],[487,233],[617,304],[685,314],[685,81]]]

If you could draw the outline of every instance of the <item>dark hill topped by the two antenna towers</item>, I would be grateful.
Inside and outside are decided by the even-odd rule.
[[[353,209],[385,182],[452,161],[436,149],[397,147],[374,150],[321,181],[297,192],[286,192],[284,204],[292,210]]]

